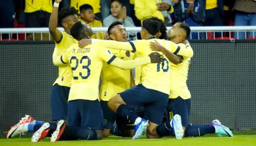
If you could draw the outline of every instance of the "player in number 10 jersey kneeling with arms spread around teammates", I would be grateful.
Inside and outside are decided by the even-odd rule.
[[[141,28],[141,38],[144,40],[130,41],[129,43],[93,40],[93,43],[100,43],[113,49],[123,48],[133,50],[133,52],[137,52],[135,57],[144,57],[152,52],[149,49],[149,42],[154,41],[156,34],[160,31],[160,26],[161,23],[158,21],[146,19],[143,21]],[[185,57],[193,56],[193,52],[191,53],[189,49],[181,48],[171,41],[158,39],[157,41],[160,41],[160,44],[168,47],[171,52],[175,54]],[[133,139],[137,139],[143,133],[147,125],[147,136],[149,138],[157,138],[159,137],[157,127],[162,122],[162,115],[169,97],[169,61],[164,57],[163,63],[146,64],[142,66],[141,69],[142,84],[112,97],[112,99],[108,101],[108,106],[119,116],[128,118],[135,123],[135,129],[137,130]],[[149,123],[145,119],[138,117],[138,115],[132,111],[132,109],[140,106],[144,106],[144,116],[149,120]],[[171,123],[174,123],[172,128],[174,128],[176,137],[181,138],[183,136],[183,128],[180,116],[174,116]]]

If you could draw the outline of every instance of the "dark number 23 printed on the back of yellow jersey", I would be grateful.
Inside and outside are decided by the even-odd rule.
[[[85,69],[87,70],[87,75],[83,75],[82,72],[76,72],[76,69],[77,67],[79,66],[79,64],[82,64],[83,61],[86,61],[87,60],[87,65],[83,65],[82,66],[82,69]],[[88,58],[87,56],[83,56],[80,60],[78,60],[75,56],[71,57],[70,58],[70,64],[72,64],[72,61],[76,61],[74,64],[75,66],[71,65],[71,69],[73,71],[73,79],[74,80],[78,80],[78,75],[82,78],[82,79],[87,79],[90,74],[91,74],[91,71],[90,71],[90,64],[91,64],[91,60],[90,58]]]

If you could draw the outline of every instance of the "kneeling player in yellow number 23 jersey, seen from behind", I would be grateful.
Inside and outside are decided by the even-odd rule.
[[[92,30],[80,21],[74,24],[71,35],[76,40],[90,38]],[[121,60],[99,44],[80,48],[73,44],[57,60],[57,64],[70,64],[73,82],[68,97],[68,125],[70,127],[90,127],[96,131],[98,139],[102,138],[103,115],[98,97],[99,76],[102,63],[107,62],[123,69],[131,69],[148,63],[159,63],[159,54],[149,54],[137,60]],[[59,139],[61,134],[54,133]]]

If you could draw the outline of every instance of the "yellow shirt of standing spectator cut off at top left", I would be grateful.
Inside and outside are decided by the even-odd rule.
[[[43,10],[48,13],[52,13],[52,1],[51,0],[26,0],[25,1],[25,13],[32,13],[38,10]]]

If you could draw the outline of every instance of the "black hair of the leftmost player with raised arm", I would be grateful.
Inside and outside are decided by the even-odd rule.
[[[58,23],[60,26],[62,26],[63,19],[65,19],[69,15],[78,15],[77,10],[74,9],[74,7],[64,7],[60,9],[59,15],[58,15]]]

